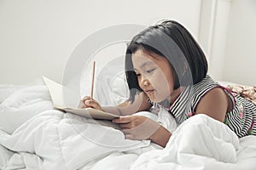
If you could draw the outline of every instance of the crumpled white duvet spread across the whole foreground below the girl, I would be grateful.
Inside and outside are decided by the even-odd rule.
[[[0,169],[256,169],[256,137],[238,139],[205,115],[177,127],[162,149],[124,139],[111,122],[53,110],[44,86],[20,89],[0,110]],[[173,131],[166,116],[157,121]]]

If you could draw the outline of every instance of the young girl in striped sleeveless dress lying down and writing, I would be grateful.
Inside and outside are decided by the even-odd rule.
[[[165,108],[177,123],[206,114],[224,122],[238,137],[256,134],[256,106],[232,95],[207,75],[207,59],[182,25],[173,20],[149,26],[133,37],[125,55],[125,73],[130,99],[102,108],[84,97],[79,107],[92,107],[121,115],[126,139],[150,139],[165,147],[172,136],[165,127],[146,116],[132,115],[154,107]]]

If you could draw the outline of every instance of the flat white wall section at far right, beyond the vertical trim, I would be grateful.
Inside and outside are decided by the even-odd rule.
[[[255,0],[232,1],[224,59],[224,80],[256,85],[255,20]]]

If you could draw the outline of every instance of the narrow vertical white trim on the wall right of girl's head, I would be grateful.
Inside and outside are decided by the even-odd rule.
[[[226,39],[229,27],[230,0],[207,0],[211,2],[212,13],[207,38],[207,57],[209,74],[215,80],[222,80],[224,58],[226,52]],[[205,1],[206,2],[206,1]]]

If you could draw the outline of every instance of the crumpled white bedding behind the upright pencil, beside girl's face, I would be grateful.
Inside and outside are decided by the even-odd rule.
[[[117,65],[116,67],[122,67]],[[125,71],[123,68],[116,72],[114,68],[96,67],[94,99],[102,106],[113,106],[123,103],[129,97],[129,88],[126,83]],[[91,71],[84,71],[80,80],[81,98],[90,95]],[[78,77],[77,77],[78,78]],[[73,80],[75,82],[75,80]],[[70,82],[71,84],[71,82]]]

